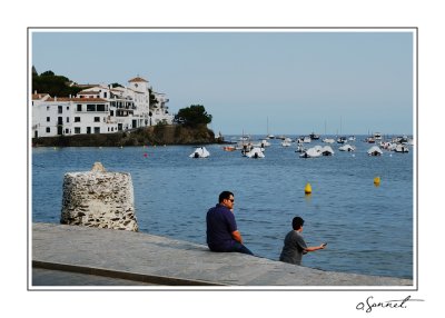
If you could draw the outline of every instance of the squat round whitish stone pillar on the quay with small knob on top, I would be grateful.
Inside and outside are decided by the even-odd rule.
[[[66,173],[60,222],[138,231],[130,173],[107,172],[100,162]]]

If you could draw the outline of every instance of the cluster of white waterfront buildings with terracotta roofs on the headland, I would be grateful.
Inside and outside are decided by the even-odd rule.
[[[154,93],[157,103],[150,107],[148,81],[129,80],[129,87],[96,86],[76,97],[51,98],[32,95],[32,137],[79,133],[112,133],[157,125],[172,123],[165,95]]]

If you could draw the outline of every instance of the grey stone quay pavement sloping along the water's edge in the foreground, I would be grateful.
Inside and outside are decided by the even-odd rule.
[[[202,245],[142,232],[32,223],[31,235],[33,269],[126,279],[135,285],[413,288],[411,279],[323,271],[236,252],[211,252]]]

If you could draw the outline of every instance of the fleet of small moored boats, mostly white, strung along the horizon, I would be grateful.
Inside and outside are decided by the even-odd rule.
[[[241,155],[247,158],[260,159],[265,158],[265,149],[270,146],[270,139],[280,139],[281,147],[290,147],[296,143],[297,148],[295,152],[299,152],[300,158],[317,158],[322,156],[333,156],[335,153],[332,143],[342,145],[338,150],[339,151],[348,151],[353,152],[356,150],[354,145],[350,145],[356,141],[354,136],[349,137],[338,137],[334,138],[325,138],[322,141],[324,143],[328,143],[325,146],[316,145],[314,147],[307,148],[306,146],[310,143],[313,140],[318,140],[319,136],[315,133],[310,133],[309,136],[301,136],[295,139],[295,141],[288,137],[279,137],[271,138],[268,136],[265,139],[260,139],[259,141],[253,141],[249,137],[243,136],[238,142],[234,142],[233,145],[225,146],[222,149],[225,151],[236,151],[240,150]],[[380,133],[375,133],[372,137],[365,138],[363,141],[367,143],[374,143],[368,150],[367,153],[369,156],[382,156],[383,150],[395,151],[395,152],[409,152],[409,146],[413,145],[413,140],[408,139],[406,136],[396,137],[388,139],[386,141],[383,140]],[[376,141],[379,143],[376,145]],[[207,158],[210,153],[205,147],[198,147],[195,151],[189,156],[190,158]]]

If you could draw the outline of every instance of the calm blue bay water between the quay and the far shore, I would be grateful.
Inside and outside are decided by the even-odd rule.
[[[205,245],[206,212],[227,189],[245,244],[260,257],[278,259],[291,219],[301,216],[307,244],[328,242],[304,256],[304,266],[413,278],[414,151],[368,157],[370,146],[358,139],[354,153],[335,143],[333,157],[315,159],[299,158],[280,140],[271,140],[264,159],[218,145],[207,146],[207,159],[189,158],[189,146],[33,148],[32,221],[59,222],[63,175],[100,161],[108,171],[131,173],[142,232]]]

